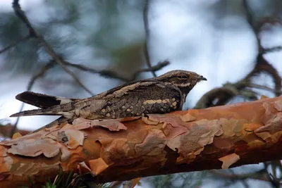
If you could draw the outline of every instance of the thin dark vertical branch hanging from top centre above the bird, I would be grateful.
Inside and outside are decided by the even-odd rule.
[[[151,61],[150,61],[150,58],[149,58],[149,52],[148,52],[148,40],[149,40],[148,10],[149,10],[149,0],[146,0],[145,6],[144,6],[144,9],[143,9],[143,20],[144,20],[144,27],[145,27],[145,34],[146,34],[144,54],[145,54],[145,59],[146,59],[146,63],[147,63],[148,68],[152,68]],[[151,72],[154,75],[154,77],[157,77],[154,70],[152,70]]]

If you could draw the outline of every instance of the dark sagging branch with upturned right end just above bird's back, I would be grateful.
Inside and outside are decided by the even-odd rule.
[[[161,70],[161,68],[164,68],[166,65],[169,64],[168,61],[159,62],[157,65],[154,65],[151,68],[144,68],[144,69],[137,70],[136,73],[133,74],[133,77],[128,78],[128,77],[123,77],[121,75],[118,75],[118,73],[115,73],[114,71],[111,71],[111,70],[96,70],[94,68],[88,68],[84,65],[74,64],[68,61],[64,61],[64,63],[68,66],[71,66],[73,68],[78,68],[79,70],[82,70],[82,71],[99,74],[103,77],[110,77],[110,78],[115,78],[118,80],[123,80],[124,82],[130,82],[130,81],[135,80],[137,75],[139,75],[140,73]]]

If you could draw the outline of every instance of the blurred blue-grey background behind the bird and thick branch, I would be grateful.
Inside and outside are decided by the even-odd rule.
[[[86,98],[183,69],[208,80],[188,94],[185,109],[281,95],[282,1],[22,0],[20,6],[63,65],[14,13],[12,1],[1,0],[3,136],[13,133],[13,125],[27,132],[57,118],[8,118],[20,111],[23,104],[15,96],[26,90]],[[281,173],[281,162],[274,161],[147,177],[140,187],[280,187]]]

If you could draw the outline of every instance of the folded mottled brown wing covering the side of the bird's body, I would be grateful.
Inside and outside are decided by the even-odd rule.
[[[125,84],[123,87],[112,90],[103,96],[104,104],[97,107],[92,100],[78,101],[75,106],[80,113],[92,114],[94,118],[124,118],[142,115],[142,113],[167,113],[180,110],[182,94],[180,89],[173,85],[163,84],[155,80],[146,80]]]

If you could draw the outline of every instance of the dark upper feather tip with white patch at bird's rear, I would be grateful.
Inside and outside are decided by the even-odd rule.
[[[16,99],[26,104],[36,106],[38,108],[49,108],[60,104],[66,104],[79,99],[69,99],[61,96],[50,96],[47,94],[39,94],[35,92],[23,92],[16,96]]]

